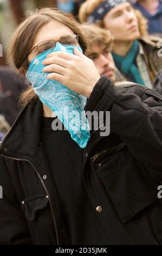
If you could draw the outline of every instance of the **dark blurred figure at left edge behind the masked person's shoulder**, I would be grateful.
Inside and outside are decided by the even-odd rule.
[[[12,125],[18,115],[18,101],[27,80],[11,69],[0,66],[0,114]],[[1,132],[1,130],[0,130]]]

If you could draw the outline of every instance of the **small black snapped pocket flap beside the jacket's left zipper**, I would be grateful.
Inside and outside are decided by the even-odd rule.
[[[47,207],[48,197],[46,194],[37,195],[24,199],[22,204],[22,209],[25,212],[25,217],[29,221],[35,220],[35,218],[40,214],[40,212]]]

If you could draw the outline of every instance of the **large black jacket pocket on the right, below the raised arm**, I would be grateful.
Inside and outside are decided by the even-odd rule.
[[[120,163],[117,164],[118,169],[112,172],[108,168],[114,169],[111,167],[113,164],[115,159],[97,173],[121,222],[126,223],[157,200],[158,184],[131,154],[126,156],[121,167]]]

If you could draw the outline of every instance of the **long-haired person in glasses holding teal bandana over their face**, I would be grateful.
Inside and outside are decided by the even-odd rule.
[[[87,43],[55,8],[30,12],[10,39],[30,84],[0,142],[0,245],[162,245],[162,95],[114,86]]]

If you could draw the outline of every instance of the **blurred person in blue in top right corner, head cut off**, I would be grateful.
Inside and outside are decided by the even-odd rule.
[[[132,0],[135,9],[141,11],[148,20],[148,32],[162,35],[162,1],[161,0]]]

